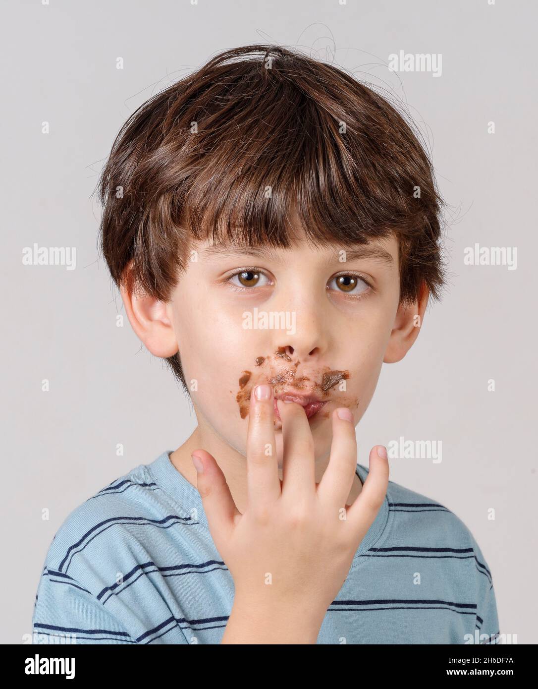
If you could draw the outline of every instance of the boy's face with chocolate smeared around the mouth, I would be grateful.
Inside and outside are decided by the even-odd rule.
[[[192,248],[166,308],[198,423],[245,455],[249,395],[267,383],[302,395],[316,460],[328,456],[331,411],[348,407],[359,422],[382,362],[404,356],[424,312],[398,306],[397,239],[364,256],[364,246],[315,249],[304,236],[290,249]],[[274,425],[281,464],[278,415]]]

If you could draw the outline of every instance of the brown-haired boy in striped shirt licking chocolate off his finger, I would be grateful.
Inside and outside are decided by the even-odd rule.
[[[495,643],[468,528],[390,482],[382,446],[356,464],[381,365],[444,284],[402,116],[332,65],[229,50],[132,114],[101,199],[130,323],[198,426],[63,522],[36,641]]]

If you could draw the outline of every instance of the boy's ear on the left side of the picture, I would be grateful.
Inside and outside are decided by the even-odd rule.
[[[132,262],[125,269],[132,270]],[[178,341],[169,317],[169,305],[156,297],[136,291],[131,279],[122,280],[121,298],[132,329],[154,356],[168,358],[178,353]]]

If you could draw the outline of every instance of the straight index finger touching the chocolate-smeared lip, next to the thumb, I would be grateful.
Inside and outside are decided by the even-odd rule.
[[[266,511],[281,495],[273,400],[270,385],[256,385],[251,392],[247,431],[247,505],[256,512]]]

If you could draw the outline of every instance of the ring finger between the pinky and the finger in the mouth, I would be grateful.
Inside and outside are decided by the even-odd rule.
[[[338,415],[342,414],[342,418]],[[318,485],[318,497],[331,508],[344,507],[357,470],[357,438],[353,415],[346,407],[333,411],[333,440],[329,464]]]

